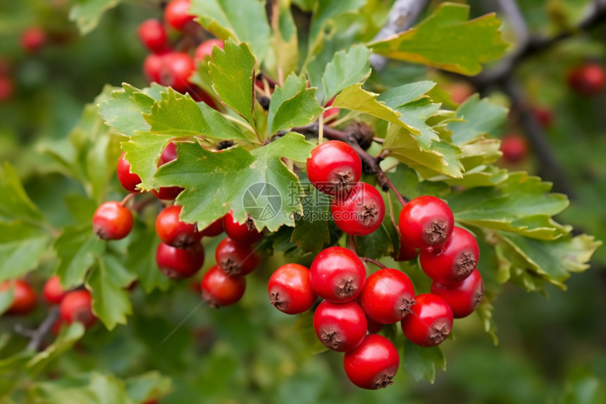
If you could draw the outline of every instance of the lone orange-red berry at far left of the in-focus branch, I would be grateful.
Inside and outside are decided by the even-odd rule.
[[[103,240],[120,240],[132,229],[132,213],[120,202],[109,201],[99,205],[92,215],[92,230]]]

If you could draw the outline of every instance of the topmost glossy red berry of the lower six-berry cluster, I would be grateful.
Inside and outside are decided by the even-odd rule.
[[[343,247],[328,247],[321,251],[309,268],[311,287],[321,298],[334,303],[357,298],[365,278],[364,262]]]

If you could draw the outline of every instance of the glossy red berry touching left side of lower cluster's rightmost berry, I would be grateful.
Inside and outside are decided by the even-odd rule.
[[[370,319],[394,324],[409,314],[414,305],[414,286],[402,271],[379,269],[366,278],[359,302]]]

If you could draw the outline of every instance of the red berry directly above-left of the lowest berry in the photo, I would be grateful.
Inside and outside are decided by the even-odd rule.
[[[356,302],[321,302],[314,312],[314,330],[328,349],[349,352],[366,336],[366,316]]]

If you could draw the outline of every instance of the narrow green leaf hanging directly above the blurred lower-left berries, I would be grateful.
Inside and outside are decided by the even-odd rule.
[[[126,324],[132,314],[130,294],[125,288],[135,280],[123,264],[113,255],[105,254],[99,266],[87,278],[92,294],[92,310],[109,330],[117,324]]]

